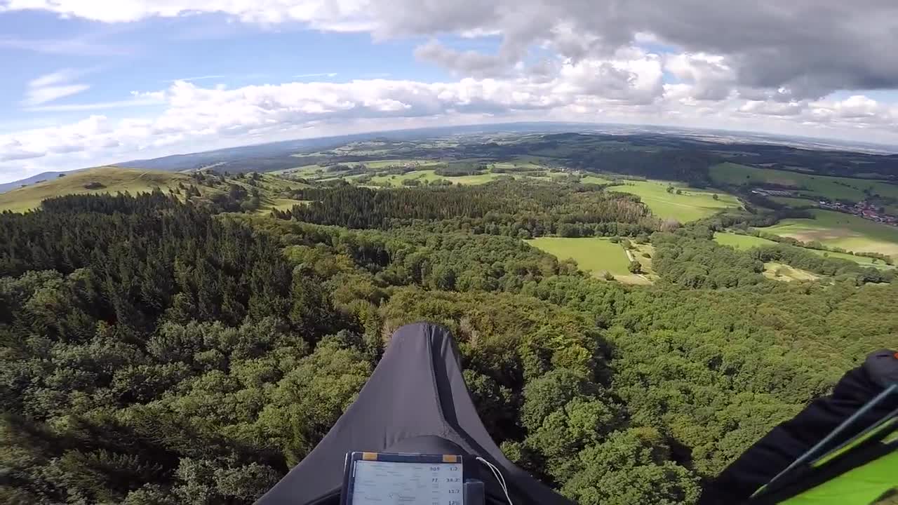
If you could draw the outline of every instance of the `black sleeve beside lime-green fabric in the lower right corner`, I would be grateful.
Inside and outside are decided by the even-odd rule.
[[[885,361],[884,356],[891,362]],[[874,368],[871,368],[871,363],[875,365]],[[814,400],[797,416],[783,422],[749,447],[710,483],[702,494],[700,505],[731,504],[747,500],[758,488],[769,483],[770,479],[814,447],[842,421],[881,393],[885,389],[881,370],[893,375],[898,370],[898,357],[894,352],[877,351],[871,354],[863,367],[854,368],[841,378],[831,395]],[[893,397],[890,402],[880,405],[853,423],[840,440],[856,435],[895,408],[898,408],[898,401]]]

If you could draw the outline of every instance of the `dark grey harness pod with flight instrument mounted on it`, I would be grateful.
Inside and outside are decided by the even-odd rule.
[[[448,467],[431,472],[431,462]],[[438,489],[431,494],[435,478]],[[431,487],[418,489],[422,483]],[[257,505],[435,502],[575,505],[509,461],[490,437],[452,334],[437,324],[413,323],[393,333],[356,400]]]

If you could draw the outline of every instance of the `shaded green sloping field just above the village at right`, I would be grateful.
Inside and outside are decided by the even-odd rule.
[[[880,196],[898,198],[898,186],[881,181],[829,177],[808,173],[785,172],[770,168],[755,168],[744,164],[723,163],[711,167],[711,180],[720,184],[740,185],[748,182],[778,184],[805,190],[826,199],[866,198],[864,190]]]

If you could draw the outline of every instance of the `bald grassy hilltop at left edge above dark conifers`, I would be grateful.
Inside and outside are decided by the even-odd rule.
[[[192,180],[184,173],[101,166],[0,194],[0,210],[24,212],[39,208],[44,199],[77,193],[114,194],[128,191],[136,194],[155,188],[168,190],[177,187],[180,182],[190,184]],[[92,184],[101,184],[102,187],[89,189]]]

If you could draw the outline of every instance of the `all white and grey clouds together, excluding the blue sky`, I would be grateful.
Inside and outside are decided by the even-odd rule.
[[[423,37],[415,58],[445,67],[455,80],[234,89],[181,80],[122,97],[122,103],[158,104],[153,115],[125,119],[101,115],[91,104],[66,104],[59,111],[93,113],[0,135],[0,180],[9,178],[4,171],[33,173],[63,161],[84,166],[353,128],[500,120],[670,124],[898,143],[896,101],[871,98],[882,96],[871,91],[898,89],[898,51],[891,50],[898,3],[886,0],[0,0],[0,12],[22,10],[104,23],[216,13],[262,29],[293,23],[366,32],[375,40]],[[493,53],[461,50],[447,35],[500,43]],[[35,79],[22,103],[53,111],[47,102],[83,91],[77,86],[84,84],[62,77]]]

